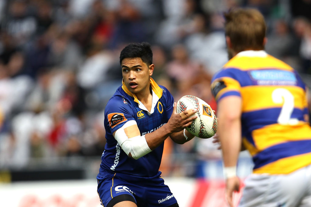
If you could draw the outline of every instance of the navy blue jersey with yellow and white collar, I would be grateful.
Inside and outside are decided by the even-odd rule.
[[[112,135],[129,120],[137,122],[141,136],[167,123],[173,112],[174,98],[165,87],[158,86],[152,78],[150,83],[153,92],[159,97],[152,114],[139,108],[137,97],[126,88],[124,83],[108,101],[104,113],[107,143],[97,179],[105,177],[107,173],[123,173],[146,178],[154,177],[159,172],[164,143],[134,160],[128,157]]]

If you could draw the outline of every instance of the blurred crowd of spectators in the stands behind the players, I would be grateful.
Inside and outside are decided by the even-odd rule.
[[[258,8],[266,51],[311,74],[310,0],[0,1],[0,169],[31,158],[100,159],[104,107],[121,85],[119,52],[131,42],[151,43],[152,77],[175,100],[191,94],[216,110],[209,85],[228,61],[222,13],[235,6]],[[167,140],[163,162],[170,166],[173,152],[213,159],[216,148]]]

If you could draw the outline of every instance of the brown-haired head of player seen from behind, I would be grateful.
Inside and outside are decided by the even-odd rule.
[[[225,35],[229,57],[244,50],[263,50],[266,23],[256,9],[237,8],[224,13]]]

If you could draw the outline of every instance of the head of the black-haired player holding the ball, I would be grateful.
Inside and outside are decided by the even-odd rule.
[[[152,50],[149,43],[131,43],[120,53],[123,82],[137,98],[149,91],[153,73]]]

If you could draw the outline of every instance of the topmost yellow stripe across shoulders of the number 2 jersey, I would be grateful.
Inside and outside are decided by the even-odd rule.
[[[254,68],[250,68],[250,65],[256,65]],[[276,59],[271,55],[267,55],[266,57],[260,56],[239,56],[236,55],[228,61],[224,68],[238,68],[240,70],[258,70],[258,69],[271,69],[271,65],[273,65],[274,69],[282,69],[282,70],[293,70],[290,65],[285,62]]]

